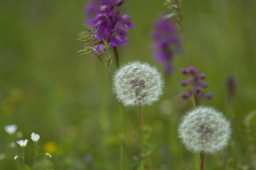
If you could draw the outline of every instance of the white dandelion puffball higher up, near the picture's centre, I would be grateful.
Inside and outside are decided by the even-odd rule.
[[[124,105],[151,105],[162,95],[164,81],[157,68],[134,61],[115,72],[114,86],[117,99]]]

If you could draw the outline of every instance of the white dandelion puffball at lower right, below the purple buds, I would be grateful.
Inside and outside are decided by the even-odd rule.
[[[214,108],[200,106],[184,116],[178,135],[189,151],[212,154],[228,144],[230,122]]]

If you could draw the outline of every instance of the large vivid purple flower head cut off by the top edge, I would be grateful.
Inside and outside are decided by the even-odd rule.
[[[87,4],[87,24],[99,28],[97,38],[107,39],[111,46],[125,45],[128,41],[125,38],[127,28],[134,27],[129,15],[120,17],[119,11],[114,10],[123,2],[124,0],[91,0]]]

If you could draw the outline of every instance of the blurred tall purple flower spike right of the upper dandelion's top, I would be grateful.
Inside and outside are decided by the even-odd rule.
[[[163,64],[165,71],[171,73],[174,70],[172,58],[175,54],[183,52],[182,40],[175,22],[171,18],[165,19],[164,15],[161,15],[155,22],[151,37],[155,61]]]

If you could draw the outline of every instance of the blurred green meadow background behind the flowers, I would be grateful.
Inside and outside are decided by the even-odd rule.
[[[131,15],[134,28],[128,30],[127,45],[118,47],[121,65],[140,60],[164,70],[154,62],[150,45],[152,25],[166,11],[163,3],[124,2],[121,14]],[[51,152],[52,159],[38,158],[38,167],[119,169],[120,106],[98,58],[77,53],[84,46],[77,35],[84,31],[85,4],[81,0],[0,1],[0,154],[7,156],[0,169],[19,169],[14,149],[8,148],[16,139],[4,131],[9,124],[18,125],[22,139],[30,139],[32,132],[41,136],[40,152]],[[253,0],[182,1],[189,65],[207,74],[205,92],[214,95],[202,104],[224,112],[233,129],[230,145],[207,155],[205,169],[256,169],[255,9]],[[187,67],[185,56],[177,55],[173,62],[175,72],[163,72],[161,100],[144,107],[145,123],[152,128],[152,162],[154,169],[199,169],[199,154],[186,151],[177,138],[179,120],[192,102],[179,98],[180,92],[188,90],[179,85],[187,79],[179,72]],[[111,74],[114,71],[115,65]],[[228,75],[235,79],[232,100],[227,98]],[[138,108],[129,107],[127,112],[140,135]],[[127,158],[135,162],[132,156],[140,151],[128,123],[125,133]],[[30,140],[26,163],[32,164],[33,158]]]

